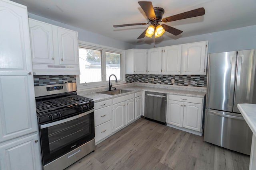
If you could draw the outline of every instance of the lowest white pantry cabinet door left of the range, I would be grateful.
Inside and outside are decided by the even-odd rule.
[[[38,135],[31,135],[0,144],[1,170],[40,170],[41,156]]]

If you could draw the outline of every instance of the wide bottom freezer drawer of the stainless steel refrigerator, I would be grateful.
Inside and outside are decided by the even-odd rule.
[[[252,131],[241,114],[206,109],[204,141],[250,155]]]

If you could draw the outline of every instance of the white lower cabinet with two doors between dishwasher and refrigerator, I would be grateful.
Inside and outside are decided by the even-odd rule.
[[[204,98],[169,95],[167,123],[202,133],[203,102]]]

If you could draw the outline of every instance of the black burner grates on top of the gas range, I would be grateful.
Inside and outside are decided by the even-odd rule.
[[[90,102],[92,99],[86,98],[79,95],[66,96],[62,98],[55,98],[49,100],[43,100],[36,102],[37,113],[42,113],[46,111],[52,111],[55,109],[60,109],[67,106],[72,106],[76,104],[83,104]]]

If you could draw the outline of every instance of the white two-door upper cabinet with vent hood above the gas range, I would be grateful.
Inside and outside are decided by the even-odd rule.
[[[33,19],[29,27],[35,75],[80,74],[76,31]]]

